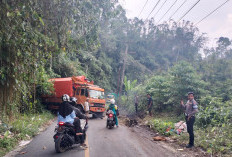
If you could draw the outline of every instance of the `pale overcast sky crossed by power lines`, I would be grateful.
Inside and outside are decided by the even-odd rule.
[[[119,3],[126,9],[127,17],[134,18],[139,16],[146,1],[147,0],[119,0]],[[148,0],[139,18],[146,19],[158,1],[159,0]],[[149,18],[154,17],[155,21],[160,21],[159,23],[162,23],[168,20],[178,7],[186,1],[172,17],[175,21],[178,21],[198,0],[167,0],[161,8],[165,1],[166,0],[160,0]],[[196,24],[225,1],[226,0],[200,0],[182,20],[188,20]],[[176,3],[174,4],[174,2]],[[167,12],[172,5],[173,7]],[[159,9],[160,11],[158,12]],[[167,14],[164,16],[166,12]],[[200,32],[207,33],[206,36],[209,37],[208,44],[212,44],[212,46],[215,45],[216,40],[221,36],[232,39],[232,0],[229,0],[229,2],[219,10],[200,22],[197,27],[200,29]]]

